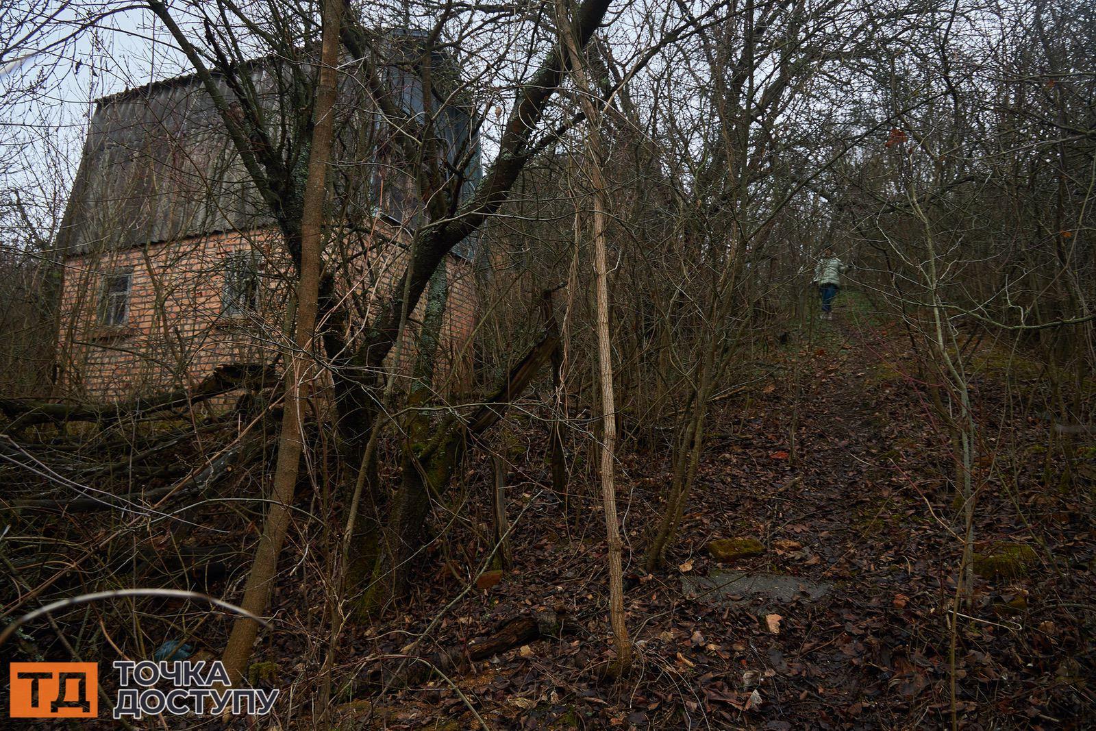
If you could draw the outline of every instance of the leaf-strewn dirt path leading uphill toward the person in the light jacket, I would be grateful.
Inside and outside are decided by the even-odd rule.
[[[739,662],[770,678],[758,687],[763,717],[740,722],[902,728],[917,724],[914,715],[933,726],[945,720],[940,623],[912,614],[911,595],[928,592],[929,578],[938,587],[950,556],[918,529],[931,517],[903,487],[911,477],[894,448],[898,424],[915,423],[918,404],[875,380],[879,328],[853,317],[818,325],[800,397],[786,385],[756,409],[756,430],[735,439],[742,452],[732,449],[732,460],[754,464],[743,470],[743,501],[724,511],[730,526],[760,534],[766,546],[763,557],[737,568],[832,591],[739,609],[738,631],[752,635],[739,643],[746,650]],[[785,460],[794,419],[795,454]],[[774,464],[783,465],[775,473]],[[709,473],[728,468],[719,457],[706,464]],[[761,621],[767,613],[781,616],[778,633]]]

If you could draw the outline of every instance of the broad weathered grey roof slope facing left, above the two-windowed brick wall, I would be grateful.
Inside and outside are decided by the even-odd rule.
[[[213,99],[190,76],[99,101],[58,244],[76,255],[270,222]]]

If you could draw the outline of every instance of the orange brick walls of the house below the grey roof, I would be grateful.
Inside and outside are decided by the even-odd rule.
[[[389,290],[402,272],[408,252],[367,236],[352,272],[340,282],[357,310],[372,319],[378,294]],[[259,313],[221,313],[226,258],[237,251],[260,252],[263,262]],[[193,387],[224,363],[273,361],[285,339],[288,262],[278,236],[271,231],[218,233],[183,241],[73,256],[65,263],[58,338],[59,389],[64,396],[115,400],[165,388]],[[129,315],[121,328],[100,321],[104,275],[132,269]],[[476,327],[476,289],[468,262],[447,260],[449,296],[435,386],[459,390],[470,379],[471,335]],[[425,297],[423,297],[425,300]],[[413,324],[401,343],[398,375],[410,375]],[[362,322],[351,322],[350,333]]]

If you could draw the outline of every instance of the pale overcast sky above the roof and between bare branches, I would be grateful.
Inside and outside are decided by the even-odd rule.
[[[178,0],[172,4],[180,24],[199,37],[198,16],[186,12],[194,8],[210,9],[214,3]],[[686,4],[697,14],[712,7],[703,0]],[[849,12],[852,18],[865,12],[866,7],[850,2],[842,12]],[[370,2],[359,12],[364,23],[384,27],[401,22],[396,18],[399,8],[395,3]],[[515,15],[509,11],[463,10],[455,15],[452,27],[446,28],[460,37],[454,52],[466,77],[475,78],[476,103],[486,115],[482,133],[487,163],[493,158],[495,147],[491,140],[506,117],[514,84],[528,79],[553,41],[550,23],[541,14],[544,8],[533,3],[526,13]],[[616,14],[605,32],[609,34],[616,60],[625,69],[682,22],[680,5],[663,0],[621,0],[614,2],[613,13]],[[812,22],[838,25],[843,22],[830,18],[824,15]],[[45,19],[48,31],[21,43],[27,30],[41,25]],[[430,20],[416,19],[412,13],[410,24],[427,27]],[[9,46],[4,47],[4,43]],[[10,47],[13,43],[14,48]],[[659,69],[682,68],[683,53],[688,52],[666,50],[651,60],[649,70],[653,73]],[[638,100],[638,106],[641,111],[658,108],[662,116],[673,116],[678,126],[682,121],[692,121],[696,125],[693,129],[704,129],[707,115],[703,69],[704,64],[699,62],[689,71],[674,71],[666,77],[670,81],[657,90],[660,94],[657,103]],[[80,4],[69,0],[15,0],[10,9],[0,9],[0,194],[19,191],[24,205],[48,229],[49,216],[62,209],[68,195],[94,100],[191,71],[168,32],[146,10],[94,0]],[[772,66],[760,62],[756,80],[764,83],[772,71]],[[642,92],[639,81],[630,90],[633,101]],[[854,98],[864,93],[853,84],[837,85],[832,79],[818,77],[811,87],[800,87],[797,91],[799,106],[806,105],[814,113],[804,115],[800,110],[794,132],[810,134],[815,125],[832,130],[835,125],[846,124],[840,117],[846,114],[845,110],[863,108]],[[835,98],[856,103],[834,103]]]

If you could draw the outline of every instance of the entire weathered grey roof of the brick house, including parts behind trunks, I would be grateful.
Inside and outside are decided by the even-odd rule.
[[[293,124],[282,115],[286,94],[279,61],[256,59],[247,73],[260,107],[273,122],[274,137]],[[410,108],[422,110],[421,88],[412,75],[389,72],[402,87]],[[226,99],[233,99],[217,76]],[[367,181],[377,168],[370,136],[375,126],[372,105],[361,98],[364,84],[346,83],[340,93],[341,128],[336,142],[335,190],[339,209],[365,218],[375,212],[367,198]],[[468,111],[453,107],[445,137],[470,134]],[[463,118],[457,118],[463,117]],[[444,132],[444,130],[443,130]],[[278,145],[279,139],[273,140]],[[475,142],[472,142],[475,145]],[[467,142],[466,142],[467,145]],[[456,150],[454,149],[455,153]],[[476,159],[478,167],[478,156]],[[471,178],[478,178],[478,170]],[[156,81],[100,99],[91,117],[80,167],[58,236],[66,256],[125,249],[228,230],[253,230],[274,224],[251,178],[240,161],[221,117],[196,75]]]

